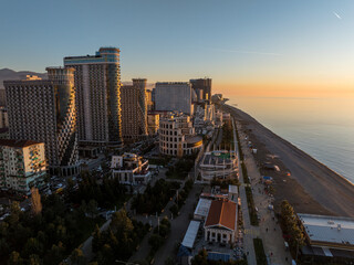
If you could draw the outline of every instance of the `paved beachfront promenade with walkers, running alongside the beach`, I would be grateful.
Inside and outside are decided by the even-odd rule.
[[[232,115],[232,113],[231,113]],[[285,251],[284,240],[282,237],[281,229],[277,223],[277,219],[273,218],[273,214],[270,210],[268,210],[269,203],[271,203],[270,198],[263,192],[262,183],[260,182],[261,176],[259,169],[256,165],[253,156],[250,152],[250,149],[247,146],[246,135],[241,132],[241,128],[239,125],[235,123],[233,125],[233,139],[236,139],[236,150],[238,148],[237,137],[236,137],[236,128],[238,128],[240,136],[240,144],[244,156],[244,165],[248,170],[248,174],[251,179],[251,188],[253,193],[254,205],[258,208],[258,213],[260,215],[260,224],[259,226],[253,226],[250,223],[249,211],[247,205],[247,197],[244,190],[244,182],[242,170],[239,170],[239,179],[240,179],[240,198],[241,198],[241,208],[242,208],[242,216],[243,216],[243,246],[249,264],[257,264],[256,262],[256,253],[253,247],[253,239],[260,237],[263,241],[264,253],[269,257],[270,264],[291,264],[290,253]],[[238,159],[240,160],[240,155],[238,151]]]

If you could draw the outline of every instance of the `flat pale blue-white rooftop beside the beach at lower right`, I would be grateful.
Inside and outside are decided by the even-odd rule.
[[[304,213],[298,216],[312,242],[354,245],[353,219]]]

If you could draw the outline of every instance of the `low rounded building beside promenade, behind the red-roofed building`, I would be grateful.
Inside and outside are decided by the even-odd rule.
[[[216,150],[206,152],[199,165],[202,181],[211,181],[214,178],[238,178],[238,160],[235,151]]]

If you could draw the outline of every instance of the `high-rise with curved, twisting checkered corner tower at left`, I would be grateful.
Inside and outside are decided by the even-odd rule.
[[[74,68],[48,67],[49,80],[4,81],[10,138],[44,142],[51,173],[75,176]]]

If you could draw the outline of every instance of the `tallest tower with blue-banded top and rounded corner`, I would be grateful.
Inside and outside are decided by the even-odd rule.
[[[101,47],[95,55],[64,57],[75,68],[79,141],[122,147],[119,49]]]

